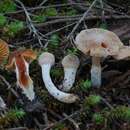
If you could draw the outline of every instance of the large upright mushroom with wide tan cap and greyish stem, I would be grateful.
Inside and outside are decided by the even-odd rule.
[[[92,28],[81,31],[75,40],[77,48],[92,57],[91,81],[92,86],[101,86],[101,57],[115,56],[123,43],[118,36],[108,30]]]

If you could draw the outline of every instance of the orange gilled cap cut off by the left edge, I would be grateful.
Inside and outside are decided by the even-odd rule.
[[[0,39],[0,64],[6,59],[9,55],[8,44]]]

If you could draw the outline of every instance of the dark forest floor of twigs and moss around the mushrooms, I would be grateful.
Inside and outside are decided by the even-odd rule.
[[[130,60],[107,57],[101,61],[102,85],[91,86],[91,57],[74,45],[83,29],[104,28],[130,44],[130,3],[104,0],[0,1],[0,36],[10,52],[32,49],[39,56],[55,56],[51,78],[58,86],[64,77],[61,61],[67,54],[80,59],[71,93],[73,104],[54,99],[42,80],[38,60],[30,64],[36,101],[29,102],[16,85],[14,71],[0,69],[0,95],[7,110],[0,111],[0,130],[130,130]],[[5,61],[6,62],[6,61]],[[6,64],[6,63],[5,63]]]

